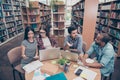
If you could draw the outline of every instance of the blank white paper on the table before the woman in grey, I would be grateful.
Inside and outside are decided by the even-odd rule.
[[[36,70],[37,68],[41,67],[43,64],[42,62],[40,62],[39,60],[36,60],[36,61],[33,61],[27,65],[25,65],[23,67],[23,69],[27,72],[27,73],[30,73],[34,70]]]

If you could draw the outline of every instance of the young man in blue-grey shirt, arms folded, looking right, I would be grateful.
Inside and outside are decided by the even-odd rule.
[[[79,58],[82,60],[83,58],[83,50],[82,50],[82,36],[78,34],[77,28],[70,26],[68,28],[69,35],[66,36],[64,41],[64,50],[69,50],[71,52],[75,52],[79,55]]]

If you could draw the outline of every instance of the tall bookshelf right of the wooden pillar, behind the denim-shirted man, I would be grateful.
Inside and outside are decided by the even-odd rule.
[[[108,33],[112,38],[111,43],[118,53],[120,49],[120,1],[100,3],[96,24],[96,32]]]

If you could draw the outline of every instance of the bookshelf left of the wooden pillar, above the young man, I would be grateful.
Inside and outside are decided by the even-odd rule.
[[[72,6],[71,25],[78,28],[78,32],[82,33],[83,17],[84,17],[85,0],[81,0]]]

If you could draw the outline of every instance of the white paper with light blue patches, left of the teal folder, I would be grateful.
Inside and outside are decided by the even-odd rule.
[[[35,70],[32,80],[45,80],[49,75],[46,73],[41,73],[40,69]]]

